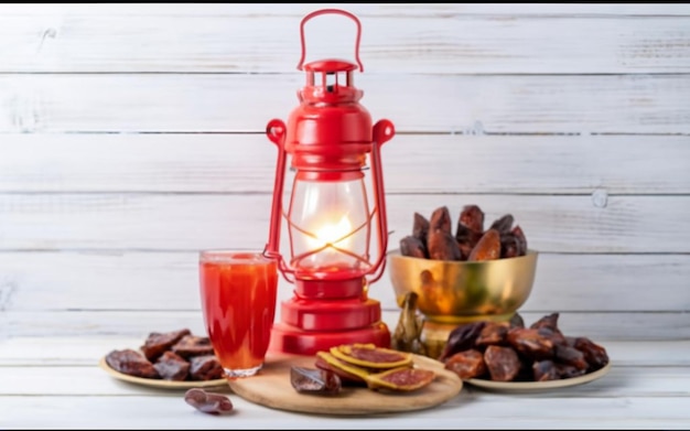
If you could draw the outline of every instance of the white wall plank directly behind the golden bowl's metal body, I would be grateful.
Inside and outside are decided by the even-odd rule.
[[[195,252],[2,252],[0,310],[195,311],[201,308],[196,262]],[[541,254],[537,268],[525,311],[690,308],[688,255]],[[292,290],[280,279],[279,301]],[[385,309],[397,309],[388,274],[371,285],[370,295]]]

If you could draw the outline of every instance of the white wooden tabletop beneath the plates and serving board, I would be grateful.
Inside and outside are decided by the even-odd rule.
[[[235,413],[213,417],[184,390],[151,389],[98,366],[139,338],[19,337],[0,341],[0,429],[688,429],[690,341],[602,342],[612,362],[602,378],[538,394],[464,385],[444,405],[409,413],[330,417],[269,409],[229,388]]]

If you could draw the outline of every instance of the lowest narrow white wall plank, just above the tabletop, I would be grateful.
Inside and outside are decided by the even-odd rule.
[[[526,322],[559,310],[520,311]],[[384,310],[382,321],[395,328],[399,309]],[[604,341],[687,341],[690,321],[687,312],[563,312],[559,326],[564,333]],[[0,341],[8,337],[132,336],[151,331],[188,327],[203,333],[201,310],[123,311],[6,311],[0,313]],[[161,330],[158,330],[161,328]]]

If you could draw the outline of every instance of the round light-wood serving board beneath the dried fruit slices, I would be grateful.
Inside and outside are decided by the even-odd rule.
[[[347,387],[335,396],[300,394],[290,382],[293,365],[315,368],[314,356],[269,353],[259,374],[228,380],[233,391],[244,399],[273,409],[304,413],[344,416],[374,414],[428,409],[455,397],[463,382],[443,364],[425,356],[414,355],[414,365],[433,369],[436,378],[428,386],[411,392],[374,391],[364,387]]]

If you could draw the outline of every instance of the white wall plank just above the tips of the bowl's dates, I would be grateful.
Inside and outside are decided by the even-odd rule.
[[[263,133],[11,133],[0,149],[10,193],[272,193],[277,155]],[[690,193],[684,136],[398,134],[382,159],[390,194]]]

